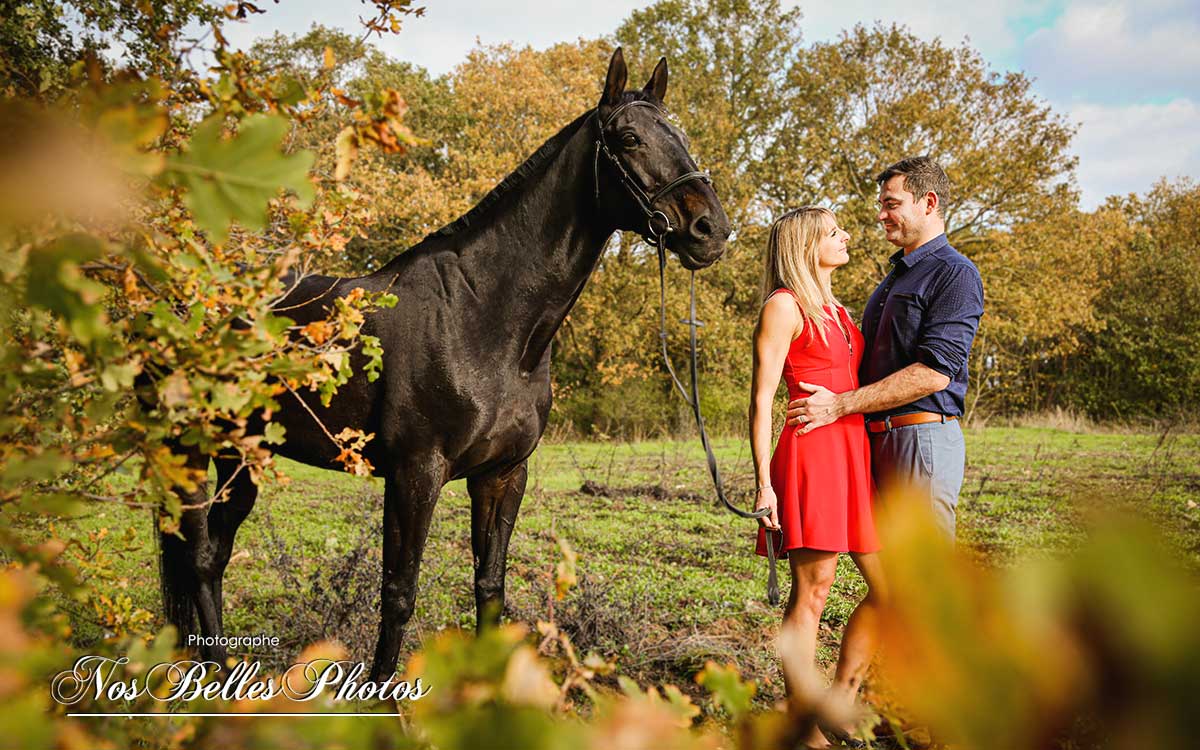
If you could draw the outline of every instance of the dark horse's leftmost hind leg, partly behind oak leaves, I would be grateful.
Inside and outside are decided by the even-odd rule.
[[[194,450],[179,450],[186,456],[185,466],[202,476],[208,472],[209,458]],[[212,595],[214,550],[208,530],[208,480],[197,482],[196,490],[176,488],[184,504],[179,518],[179,534],[160,532],[158,572],[163,611],[167,620],[179,630],[180,646],[188,646],[188,636],[220,636],[221,622]],[[223,661],[224,647],[202,642],[205,659]]]

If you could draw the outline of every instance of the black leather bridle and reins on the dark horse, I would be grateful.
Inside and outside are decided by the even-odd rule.
[[[595,121],[596,121],[596,145],[595,145],[595,155],[594,155],[593,163],[592,163],[592,168],[593,168],[593,184],[594,184],[594,187],[595,187],[595,200],[596,200],[596,204],[599,205],[599,203],[600,203],[600,156],[604,155],[608,160],[608,163],[611,163],[613,166],[613,168],[616,169],[617,176],[620,180],[622,185],[625,186],[625,190],[629,191],[629,194],[632,196],[634,200],[637,203],[638,208],[642,210],[642,214],[646,216],[646,232],[642,234],[642,236],[649,244],[654,245],[655,248],[658,248],[658,253],[659,253],[659,341],[662,344],[662,361],[667,366],[667,372],[671,373],[671,380],[674,383],[676,388],[679,390],[679,394],[683,396],[684,402],[689,407],[691,407],[692,414],[696,418],[696,427],[700,430],[700,442],[704,446],[704,454],[708,457],[708,473],[713,478],[713,486],[716,488],[716,497],[720,498],[721,503],[725,504],[725,508],[728,509],[734,515],[740,516],[743,518],[758,520],[758,518],[762,518],[762,517],[764,517],[764,516],[768,515],[769,511],[766,508],[760,509],[760,510],[755,510],[755,511],[742,510],[740,508],[734,506],[733,503],[731,503],[728,500],[728,498],[725,496],[725,486],[721,482],[721,472],[716,467],[716,456],[713,454],[712,444],[708,440],[708,431],[704,430],[704,415],[701,413],[701,409],[700,409],[700,383],[698,383],[698,377],[697,377],[697,361],[696,361],[696,329],[700,328],[700,326],[702,326],[703,323],[701,323],[700,320],[696,319],[696,272],[695,271],[691,272],[691,282],[690,282],[690,287],[689,287],[689,293],[690,293],[690,298],[691,298],[690,306],[689,306],[689,316],[688,316],[686,320],[680,320],[680,323],[684,323],[684,324],[688,325],[688,329],[689,329],[689,340],[690,340],[690,344],[691,344],[691,358],[690,358],[690,362],[689,362],[689,365],[690,365],[689,370],[690,370],[690,376],[691,376],[691,394],[690,395],[688,392],[688,389],[684,388],[683,383],[679,382],[679,377],[676,374],[674,366],[671,364],[671,356],[667,353],[667,307],[666,307],[666,305],[667,305],[667,301],[666,301],[666,265],[667,265],[667,256],[666,256],[666,240],[667,240],[667,235],[671,232],[674,232],[676,227],[671,223],[671,218],[664,211],[661,211],[661,210],[659,210],[659,209],[655,208],[655,203],[660,198],[662,198],[664,196],[668,194],[674,188],[679,187],[680,185],[685,185],[685,184],[688,184],[688,182],[690,182],[692,180],[701,180],[704,184],[712,185],[712,179],[707,174],[704,174],[703,172],[698,172],[698,170],[686,172],[686,173],[677,176],[676,179],[671,180],[670,182],[667,182],[662,187],[658,188],[656,191],[654,191],[653,196],[647,194],[647,191],[638,184],[637,180],[634,179],[632,175],[629,174],[629,172],[625,169],[625,166],[622,164],[620,160],[618,160],[617,156],[608,149],[608,144],[605,143],[605,139],[604,139],[604,131],[613,121],[613,119],[616,119],[616,116],[618,114],[620,114],[622,112],[624,112],[625,109],[628,109],[630,107],[637,107],[637,106],[653,107],[654,109],[661,110],[661,108],[658,107],[656,104],[654,104],[653,102],[647,102],[647,101],[641,101],[640,100],[640,101],[625,102],[624,104],[620,104],[619,107],[617,107],[616,109],[613,109],[608,114],[607,119],[605,119],[602,122],[600,121],[599,110],[596,112],[596,118],[595,118]],[[775,572],[775,560],[776,560],[775,545],[772,542],[772,536],[773,536],[774,532],[772,532],[772,530],[768,529],[766,534],[767,534],[767,560],[768,560],[768,564],[769,564],[769,572],[768,572],[768,578],[767,578],[767,600],[772,605],[776,605],[776,604],[779,604],[779,578],[778,578],[778,575]],[[780,533],[779,536],[780,536],[780,544],[782,544],[782,534]]]

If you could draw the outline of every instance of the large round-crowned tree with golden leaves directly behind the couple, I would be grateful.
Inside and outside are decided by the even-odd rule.
[[[854,305],[895,251],[877,229],[875,175],[901,157],[926,154],[946,169],[948,234],[968,257],[989,232],[1076,203],[1074,128],[1033,96],[1024,73],[990,71],[965,44],[858,25],[804,50],[786,98],[780,138],[763,158],[764,203],[772,212],[806,203],[836,211],[854,258],[838,288]]]

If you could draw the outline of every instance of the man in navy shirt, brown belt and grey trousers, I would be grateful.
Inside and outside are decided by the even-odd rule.
[[[802,383],[812,395],[788,403],[787,424],[803,425],[805,433],[846,414],[865,414],[881,492],[895,482],[928,491],[937,524],[953,540],[966,463],[959,418],[967,355],[983,316],[983,282],[946,238],[950,185],[937,162],[905,158],[875,181],[877,218],[900,250],[863,313],[860,388],[834,394]]]

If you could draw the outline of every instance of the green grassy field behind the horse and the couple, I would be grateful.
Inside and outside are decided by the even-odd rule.
[[[967,431],[960,545],[989,565],[1069,551],[1094,509],[1148,516],[1165,544],[1200,570],[1200,436],[1072,433],[989,427]],[[754,480],[745,440],[716,452],[736,500]],[[382,485],[287,463],[292,481],[263,490],[239,534],[226,577],[228,635],[274,635],[282,664],[300,647],[340,638],[368,660],[379,586]],[[708,659],[737,661],[760,683],[760,700],[782,692],[773,655],[780,608],[766,601],[767,564],[752,554],[754,526],[714,505],[698,442],[544,444],[509,558],[508,617],[553,617],[583,650],[616,656],[622,673],[695,686]],[[30,521],[26,523],[44,523]],[[66,536],[134,529],[96,582],[157,611],[149,511],[104,508],[59,526]],[[31,532],[35,529],[30,529]],[[578,553],[580,584],[552,604],[558,539]],[[406,653],[430,634],[474,624],[469,500],[463,482],[443,492],[421,571]],[[781,581],[787,575],[781,566]],[[862,594],[844,556],[824,614],[821,658],[828,666]],[[70,606],[70,605],[68,605]],[[70,607],[80,644],[103,636]]]

